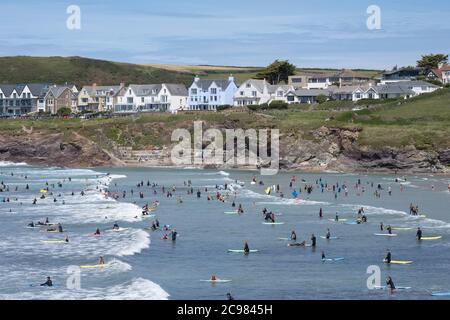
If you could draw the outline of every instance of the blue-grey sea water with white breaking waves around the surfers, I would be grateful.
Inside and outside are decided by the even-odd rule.
[[[250,183],[254,175],[257,173],[192,168],[62,169],[2,163],[0,181],[9,190],[0,192],[0,299],[225,299],[228,292],[236,299],[428,299],[434,298],[431,291],[450,290],[449,178],[406,176],[396,181],[398,177],[391,175],[296,173],[297,181],[290,189],[292,173],[257,175],[264,186]],[[316,184],[319,179],[329,186],[337,182],[347,185],[348,195],[343,189],[337,197],[332,191],[322,192]],[[358,179],[359,190],[355,188]],[[188,180],[193,195],[187,193]],[[144,186],[137,187],[141,181]],[[158,184],[156,194],[147,181]],[[225,184],[234,192],[228,191],[229,198],[222,203],[214,196],[216,186],[222,189]],[[265,193],[268,186],[276,184],[284,198]],[[305,184],[314,187],[310,195],[303,190]],[[381,197],[374,196],[378,184],[383,188]],[[167,197],[161,186],[166,190],[174,186],[176,191]],[[40,190],[46,187],[53,195],[49,192],[39,199]],[[298,199],[292,199],[291,192],[299,192],[299,187]],[[117,192],[118,199],[105,197],[106,190]],[[207,194],[214,200],[207,201]],[[9,202],[3,202],[8,198]],[[34,198],[38,199],[36,205],[32,204]],[[233,200],[242,204],[244,214],[224,214],[235,210]],[[161,240],[163,231],[145,229],[154,219],[142,218],[141,208],[154,201],[160,203],[154,212],[160,224],[170,224],[179,233],[175,242]],[[409,215],[410,203],[418,204],[426,218]],[[354,220],[360,207],[368,218],[365,224],[329,221],[336,212],[342,219]],[[277,220],[285,224],[262,224],[263,208],[281,213]],[[320,208],[323,219],[318,217]],[[46,217],[62,223],[67,232],[26,228],[31,221]],[[129,229],[88,236],[96,228],[112,228],[114,222]],[[398,236],[393,238],[374,236],[380,232],[381,222],[412,229],[394,231]],[[441,235],[442,239],[418,242],[415,232],[419,226],[424,236]],[[328,228],[339,239],[321,239]],[[288,247],[278,239],[289,237],[292,230],[298,241],[309,242],[314,233],[317,247]],[[61,240],[66,235],[69,244],[41,241]],[[227,252],[242,249],[245,241],[259,252],[248,256]],[[412,260],[413,264],[385,265],[382,260],[387,249],[393,259]],[[322,251],[327,257],[345,259],[322,263]],[[80,287],[66,286],[69,266],[96,264],[100,256],[111,263],[108,268],[81,269]],[[412,289],[394,294],[370,290],[369,266],[380,268],[381,285],[391,276],[396,285]],[[232,281],[200,281],[213,274]],[[47,276],[58,286],[38,286]]]

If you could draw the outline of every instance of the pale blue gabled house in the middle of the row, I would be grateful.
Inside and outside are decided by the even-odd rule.
[[[201,80],[196,76],[189,87],[189,110],[216,111],[218,106],[232,106],[237,89],[232,75],[228,80]]]

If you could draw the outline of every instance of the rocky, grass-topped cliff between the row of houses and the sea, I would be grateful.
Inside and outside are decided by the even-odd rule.
[[[368,107],[349,111],[302,105],[264,112],[0,120],[0,161],[141,165],[117,151],[129,147],[150,156],[159,150],[153,164],[170,165],[173,130],[191,130],[201,120],[205,129],[279,129],[280,165],[287,170],[450,172],[450,88]]]

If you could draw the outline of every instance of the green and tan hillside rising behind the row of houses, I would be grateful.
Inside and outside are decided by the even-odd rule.
[[[0,83],[86,84],[183,83],[189,86],[195,75],[204,79],[226,79],[233,74],[238,83],[254,77],[261,67],[181,66],[131,64],[82,57],[0,57]],[[297,72],[332,72],[332,69],[297,69]],[[373,77],[376,70],[359,70]]]

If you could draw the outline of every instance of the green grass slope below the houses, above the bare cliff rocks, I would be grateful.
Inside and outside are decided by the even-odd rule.
[[[92,120],[0,120],[0,134],[25,137],[24,126],[44,134],[62,132],[66,137],[77,132],[105,148],[111,148],[106,139],[120,146],[148,149],[169,144],[173,130],[185,128],[191,131],[194,121],[203,121],[204,129],[277,128],[282,134],[304,139],[312,139],[311,132],[324,125],[357,127],[361,129],[357,141],[360,146],[375,149],[406,145],[423,150],[450,148],[450,88],[410,100],[376,103],[360,111],[348,111],[342,103],[333,108],[292,105],[286,110],[258,112],[224,110]]]

